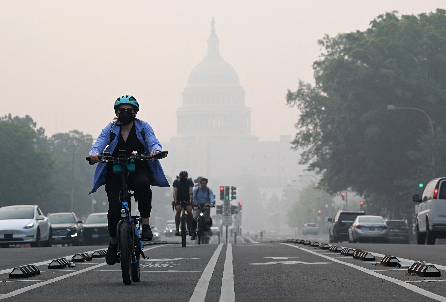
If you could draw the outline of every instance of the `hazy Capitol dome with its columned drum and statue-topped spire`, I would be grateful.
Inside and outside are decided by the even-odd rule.
[[[177,111],[177,130],[182,136],[197,133],[251,135],[251,110],[245,106],[245,92],[232,66],[219,54],[215,20],[207,39],[207,55],[189,75]]]

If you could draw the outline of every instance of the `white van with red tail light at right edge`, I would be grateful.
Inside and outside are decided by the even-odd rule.
[[[413,195],[419,202],[416,220],[417,244],[435,244],[446,238],[446,177],[435,178],[426,184],[423,195]]]

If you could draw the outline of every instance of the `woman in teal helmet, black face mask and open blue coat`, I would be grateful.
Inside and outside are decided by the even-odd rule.
[[[139,111],[139,103],[132,95],[123,95],[116,99],[114,104],[116,118],[105,127],[96,143],[90,150],[90,164],[98,161],[99,153],[110,152],[115,158],[125,153],[132,156],[133,151],[138,154],[149,153],[151,156],[162,151],[152,127],[148,122],[136,118]],[[108,145],[108,147],[107,147]],[[105,149],[107,147],[107,149]],[[105,149],[105,150],[104,150]],[[119,193],[121,189],[120,174],[113,172],[113,163],[98,163],[93,180],[93,189],[90,193],[105,184],[108,198],[108,233],[110,244],[108,245],[105,260],[107,264],[116,263],[116,227],[121,220],[121,204]],[[138,210],[142,223],[141,239],[152,240],[153,233],[149,225],[150,211],[152,210],[152,190],[150,185],[158,187],[170,187],[161,164],[158,160],[136,161],[135,171],[130,172],[127,180],[128,188],[135,192],[138,201]]]

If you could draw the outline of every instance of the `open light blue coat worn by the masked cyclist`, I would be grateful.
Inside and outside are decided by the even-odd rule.
[[[103,153],[103,152],[110,152],[113,153],[115,150],[116,145],[118,144],[118,139],[120,135],[120,126],[119,121],[111,122],[107,125],[104,129],[102,129],[101,134],[98,136],[98,139],[96,139],[96,143],[93,147],[90,149],[91,153]],[[149,125],[148,122],[141,121],[138,118],[135,118],[135,127],[136,127],[136,136],[144,146],[144,151],[147,153],[152,152],[153,150],[156,151],[163,151],[163,148],[161,147],[161,143],[158,141],[157,137],[155,136],[155,133],[153,132],[152,127]],[[115,138],[110,143],[110,132],[114,133]],[[144,138],[143,138],[144,137]],[[108,147],[107,147],[108,145]],[[105,149],[107,147],[107,149]],[[105,150],[104,150],[105,149]],[[152,170],[153,177],[155,178],[152,182],[152,186],[157,187],[170,187],[169,182],[167,181],[163,168],[161,167],[160,161],[155,159],[155,161],[148,161],[149,167]],[[93,165],[93,163],[90,163]],[[97,189],[99,189],[100,186],[105,184],[105,175],[107,174],[107,163],[98,163],[98,166],[95,170],[95,177],[93,179],[93,189],[90,193],[96,192]]]

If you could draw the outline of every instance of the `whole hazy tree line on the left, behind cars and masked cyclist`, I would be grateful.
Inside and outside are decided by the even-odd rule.
[[[104,186],[93,194],[94,208],[92,195],[88,195],[95,166],[89,165],[85,156],[92,144],[93,137],[78,130],[47,137],[45,129],[37,128],[29,115],[0,117],[0,207],[37,204],[45,214],[70,212],[73,188],[73,208],[79,217],[92,210],[107,211]],[[167,219],[171,191],[154,187],[152,191],[153,211],[161,219]]]

